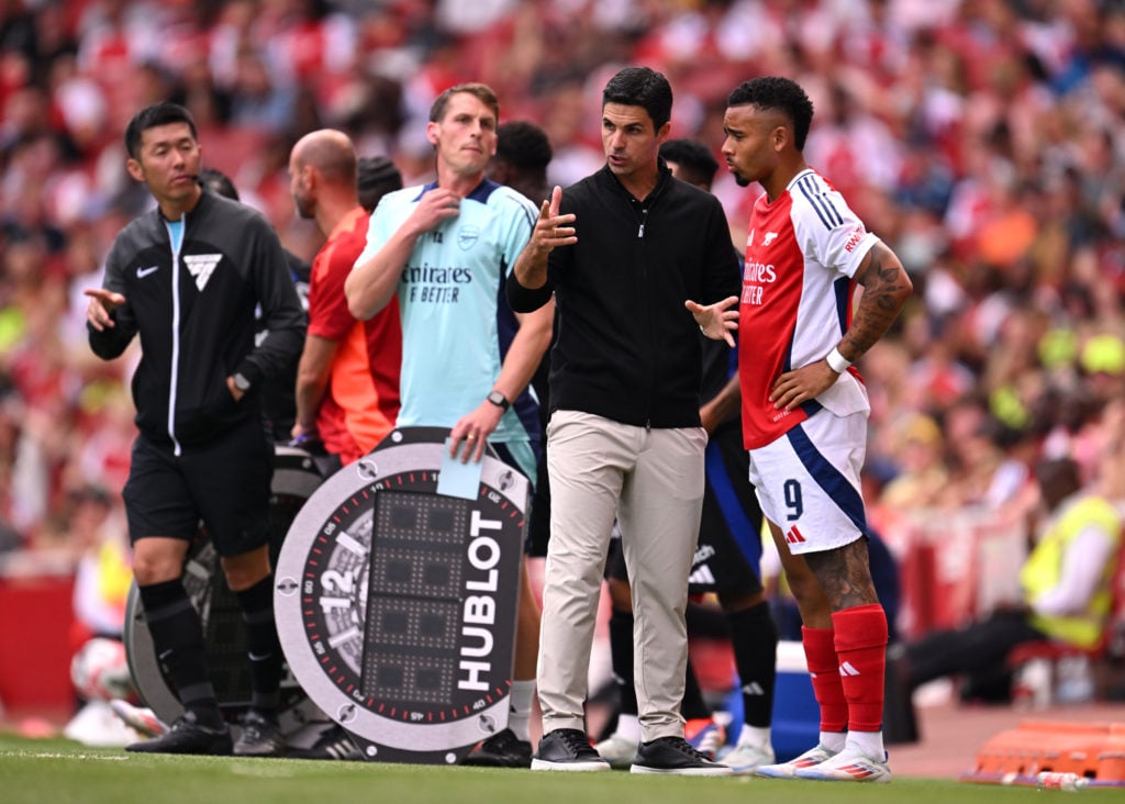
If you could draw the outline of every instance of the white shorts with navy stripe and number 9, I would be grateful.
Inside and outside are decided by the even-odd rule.
[[[750,482],[762,513],[781,529],[790,552],[821,552],[866,535],[860,491],[866,448],[865,412],[842,418],[821,409],[750,450]]]

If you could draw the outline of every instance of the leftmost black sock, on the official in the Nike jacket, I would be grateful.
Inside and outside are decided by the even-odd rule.
[[[207,726],[218,728],[223,715],[215,698],[199,614],[183,582],[166,580],[137,588],[156,658],[164,667],[183,708]]]

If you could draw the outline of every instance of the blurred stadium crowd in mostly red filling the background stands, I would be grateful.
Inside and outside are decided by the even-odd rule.
[[[860,367],[876,520],[1023,506],[1036,458],[1092,481],[1125,454],[1125,3],[3,0],[0,569],[73,567],[84,490],[120,504],[135,360],[91,354],[82,291],[151,204],[120,138],[138,108],[187,106],[205,164],[308,260],[323,236],[286,173],[303,135],[339,128],[428,180],[432,100],[484,81],[547,130],[566,186],[602,162],[591,121],[629,63],[669,78],[672,136],[716,153],[730,87],[798,80],[809,164],[906,264],[916,296]],[[755,193],[724,172],[714,191],[740,245]]]

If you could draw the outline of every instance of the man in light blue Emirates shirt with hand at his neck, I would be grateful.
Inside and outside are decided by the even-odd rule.
[[[397,293],[403,325],[399,426],[450,427],[451,457],[501,460],[536,476],[538,408],[528,382],[550,343],[554,305],[516,315],[503,282],[531,235],[536,207],[485,178],[500,103],[485,84],[442,92],[430,110],[438,181],[386,196],[367,247],[348,275],[352,314],[370,318]],[[508,728],[482,743],[493,757],[531,762],[539,605],[521,573]],[[474,761],[474,755],[467,758]]]

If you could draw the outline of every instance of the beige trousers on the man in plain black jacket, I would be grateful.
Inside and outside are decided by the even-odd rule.
[[[557,410],[539,638],[543,733],[585,730],[590,652],[614,516],[632,586],[641,739],[682,737],[687,576],[703,504],[702,427],[647,430]]]

